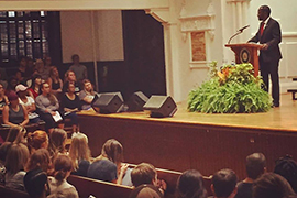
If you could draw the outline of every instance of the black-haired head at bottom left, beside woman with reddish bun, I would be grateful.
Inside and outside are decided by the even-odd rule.
[[[24,187],[32,198],[45,198],[50,195],[47,174],[42,169],[32,169],[24,176]]]

